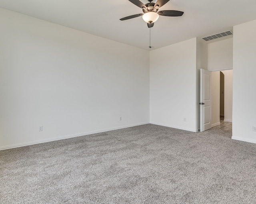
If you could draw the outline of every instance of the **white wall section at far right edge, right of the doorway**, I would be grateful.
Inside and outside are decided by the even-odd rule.
[[[256,20],[234,26],[232,138],[256,143]]]

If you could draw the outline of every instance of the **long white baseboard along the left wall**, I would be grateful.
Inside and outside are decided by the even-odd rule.
[[[128,126],[120,126],[120,127],[117,127],[117,128],[101,129],[101,130],[84,132],[84,133],[79,133],[79,134],[74,134],[74,135],[66,135],[66,136],[62,136],[62,137],[54,137],[54,138],[50,138],[50,139],[42,139],[42,140],[37,140],[37,141],[32,141],[32,142],[20,143],[20,144],[16,144],[16,145],[8,145],[8,146],[0,147],[0,151],[5,150],[5,149],[13,149],[13,148],[16,148],[16,147],[36,145],[36,144],[50,142],[50,141],[57,141],[57,140],[61,140],[61,139],[68,139],[68,138],[72,138],[72,137],[80,137],[80,136],[91,135],[91,134],[95,134],[95,133],[107,132],[107,131],[116,130],[116,129],[130,128],[130,127],[134,127],[134,126],[141,126],[141,125],[146,125],[146,124],[149,124],[149,122],[138,123],[138,124],[133,124],[133,125],[128,125]]]

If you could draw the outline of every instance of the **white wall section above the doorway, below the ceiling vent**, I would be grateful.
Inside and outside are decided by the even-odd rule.
[[[232,69],[233,38],[208,44],[208,70]]]

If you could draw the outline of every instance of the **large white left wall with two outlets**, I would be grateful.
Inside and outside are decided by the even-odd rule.
[[[148,51],[4,9],[0,27],[0,149],[149,122]]]

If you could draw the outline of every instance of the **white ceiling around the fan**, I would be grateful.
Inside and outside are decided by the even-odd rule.
[[[148,3],[147,0],[141,2]],[[149,29],[141,16],[119,20],[143,13],[128,0],[0,0],[0,7],[150,49]],[[159,10],[180,10],[184,14],[159,17],[151,30],[151,49],[232,30],[235,25],[255,20],[256,0],[170,0]]]

